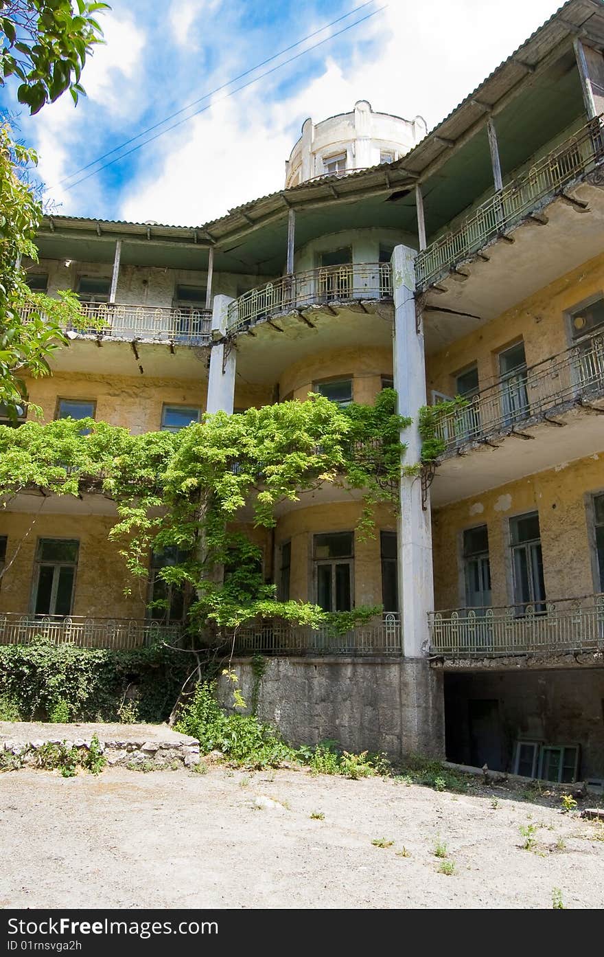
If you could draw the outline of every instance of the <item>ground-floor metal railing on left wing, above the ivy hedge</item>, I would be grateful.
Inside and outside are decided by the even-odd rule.
[[[180,625],[146,619],[0,613],[0,645],[32,645],[43,638],[56,645],[127,650],[158,641],[177,644],[182,631]]]

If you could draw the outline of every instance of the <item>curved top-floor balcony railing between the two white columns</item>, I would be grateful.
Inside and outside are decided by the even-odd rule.
[[[322,266],[274,279],[233,300],[228,306],[227,333],[234,335],[279,313],[323,302],[391,298],[389,262]]]

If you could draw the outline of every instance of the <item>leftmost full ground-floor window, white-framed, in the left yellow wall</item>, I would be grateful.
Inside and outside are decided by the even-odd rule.
[[[76,539],[38,539],[33,573],[34,614],[72,613],[78,551]]]

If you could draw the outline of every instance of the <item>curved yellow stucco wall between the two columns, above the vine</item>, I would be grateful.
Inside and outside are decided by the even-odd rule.
[[[331,349],[301,359],[281,376],[279,395],[283,399],[293,392],[293,398],[303,402],[313,390],[313,382],[350,375],[355,402],[373,403],[381,389],[381,376],[392,375],[392,350],[356,346]]]

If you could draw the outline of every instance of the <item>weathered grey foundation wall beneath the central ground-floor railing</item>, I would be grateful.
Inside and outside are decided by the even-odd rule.
[[[251,709],[293,746],[332,739],[348,751],[444,756],[442,673],[423,658],[275,657],[256,679],[250,659],[232,667]],[[221,704],[232,684],[220,679]]]

